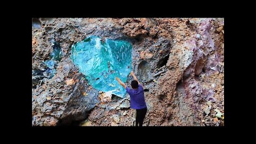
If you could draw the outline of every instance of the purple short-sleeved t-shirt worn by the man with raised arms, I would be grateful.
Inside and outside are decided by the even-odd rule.
[[[139,84],[137,90],[130,89],[128,86],[126,86],[126,91],[130,95],[131,108],[143,109],[147,107],[144,97],[144,90],[141,84]]]

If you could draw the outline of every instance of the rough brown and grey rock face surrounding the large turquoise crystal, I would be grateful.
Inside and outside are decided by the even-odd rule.
[[[71,45],[91,35],[132,44],[132,70],[145,86],[148,106],[143,125],[224,124],[223,18],[40,18],[32,28],[33,126],[132,125],[129,94],[93,89],[70,59]],[[49,78],[44,62],[54,43],[61,60]],[[131,81],[128,76],[126,85]]]

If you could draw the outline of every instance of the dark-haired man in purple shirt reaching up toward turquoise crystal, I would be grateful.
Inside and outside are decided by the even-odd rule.
[[[136,126],[142,126],[143,120],[147,113],[147,105],[144,97],[143,86],[138,81],[137,77],[134,75],[133,71],[131,71],[131,75],[133,77],[133,81],[131,82],[132,89],[126,86],[118,77],[116,80],[119,84],[121,84],[124,89],[129,93],[131,99],[131,108],[136,109]]]

